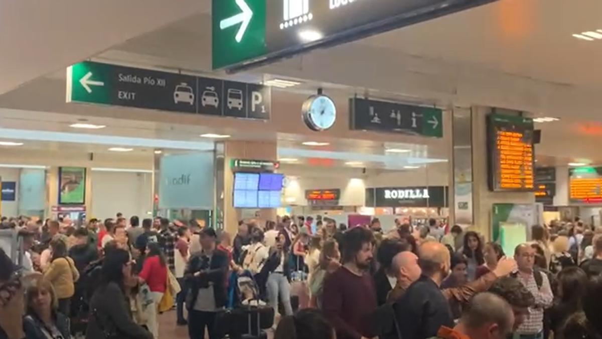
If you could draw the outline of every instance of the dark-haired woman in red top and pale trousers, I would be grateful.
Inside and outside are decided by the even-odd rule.
[[[167,289],[167,261],[157,242],[150,242],[147,248],[148,254],[146,260],[144,260],[142,271],[138,274],[138,279],[140,279],[142,284],[146,282],[149,285],[149,290],[151,290],[152,299],[155,304],[147,307],[147,325],[149,331],[151,331],[155,338],[158,338],[159,322],[157,308]]]

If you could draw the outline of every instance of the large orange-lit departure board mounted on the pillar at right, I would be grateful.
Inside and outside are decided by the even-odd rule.
[[[489,115],[489,188],[534,191],[533,119]]]

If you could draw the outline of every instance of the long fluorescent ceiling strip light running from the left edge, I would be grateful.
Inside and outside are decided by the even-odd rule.
[[[0,128],[0,136],[6,139],[72,142],[93,145],[123,145],[128,147],[175,148],[178,150],[213,151],[211,141],[178,141],[166,139],[131,138],[124,136],[90,135],[84,133],[67,133],[40,130],[17,130]]]

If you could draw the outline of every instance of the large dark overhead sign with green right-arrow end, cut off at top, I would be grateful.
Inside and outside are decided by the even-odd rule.
[[[213,0],[213,68],[258,66],[493,1]]]

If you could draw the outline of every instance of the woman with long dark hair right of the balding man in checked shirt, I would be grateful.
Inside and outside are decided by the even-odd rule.
[[[550,320],[554,334],[559,333],[562,324],[571,315],[583,311],[583,297],[588,286],[588,275],[581,268],[563,268],[556,277],[556,300],[550,310]]]

